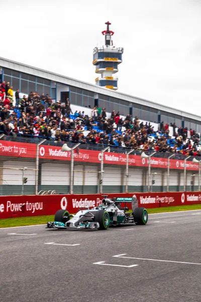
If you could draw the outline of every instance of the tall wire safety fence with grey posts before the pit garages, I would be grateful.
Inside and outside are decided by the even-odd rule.
[[[0,195],[200,191],[200,158],[0,136]]]

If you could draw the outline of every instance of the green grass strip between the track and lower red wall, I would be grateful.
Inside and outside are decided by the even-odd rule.
[[[176,212],[176,211],[199,210],[199,209],[201,209],[201,204],[167,206],[167,207],[147,209],[147,211],[148,214],[153,214],[153,213]],[[0,228],[11,228],[12,226],[45,224],[47,223],[47,221],[54,221],[54,215],[0,219]]]

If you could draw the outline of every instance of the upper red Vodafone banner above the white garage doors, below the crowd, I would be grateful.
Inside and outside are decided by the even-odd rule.
[[[1,140],[0,156],[36,158],[36,144],[21,143]],[[39,149],[40,159],[51,159],[59,161],[70,161],[70,152],[62,152],[61,147],[42,145]],[[89,149],[79,149],[79,154],[74,154],[76,162],[100,163],[101,152]],[[111,165],[126,165],[126,155],[121,153],[104,153],[104,163]],[[129,165],[138,167],[148,167],[148,159],[141,159],[140,156],[130,155]],[[167,168],[167,159],[152,158],[151,167]],[[184,168],[184,161],[170,159],[170,169]],[[198,171],[198,164],[186,162],[186,169]]]

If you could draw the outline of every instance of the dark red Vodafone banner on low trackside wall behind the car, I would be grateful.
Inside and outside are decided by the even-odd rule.
[[[156,208],[184,204],[201,204],[201,192],[169,193],[121,193],[110,197],[137,197],[139,207]],[[44,196],[1,196],[0,219],[22,216],[54,215],[59,209],[76,213],[79,209],[90,208],[102,203],[100,194],[44,195]],[[130,203],[127,206],[131,207]]]

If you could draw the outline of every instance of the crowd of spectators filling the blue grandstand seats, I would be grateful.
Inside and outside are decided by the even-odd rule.
[[[123,119],[120,112],[113,111],[108,116],[99,106],[91,110],[91,116],[81,110],[73,113],[69,99],[54,103],[48,94],[31,92],[20,98],[19,89],[14,101],[10,83],[0,84],[0,131],[5,135],[201,156],[200,137],[192,129],[161,122],[154,131],[149,122],[131,115]]]

